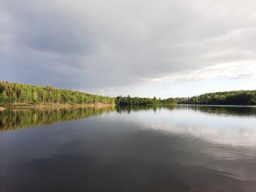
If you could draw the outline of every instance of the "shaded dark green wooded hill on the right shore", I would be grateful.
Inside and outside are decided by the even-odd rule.
[[[186,100],[178,101],[183,104],[228,104],[228,105],[255,105],[256,91],[225,91],[206,93],[192,96]]]

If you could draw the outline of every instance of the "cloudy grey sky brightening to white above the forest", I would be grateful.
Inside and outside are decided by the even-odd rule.
[[[255,0],[0,0],[0,80],[105,96],[256,89]]]

